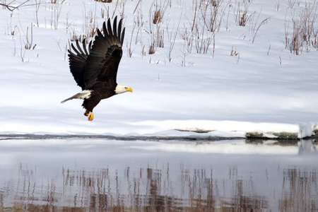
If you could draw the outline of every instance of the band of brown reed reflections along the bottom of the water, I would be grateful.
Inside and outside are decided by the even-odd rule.
[[[223,178],[213,177],[215,171],[183,163],[177,170],[169,164],[124,170],[61,167],[56,176],[38,179],[37,167],[20,165],[18,179],[1,186],[0,211],[317,211],[315,169],[277,170],[273,175],[281,185],[269,191],[253,173],[240,176],[235,166]]]

